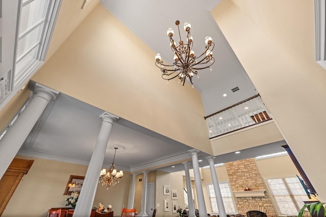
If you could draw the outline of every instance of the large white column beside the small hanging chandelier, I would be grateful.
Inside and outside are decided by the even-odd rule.
[[[84,179],[82,190],[80,191],[73,217],[90,216],[95,198],[96,188],[102,169],[108,137],[110,136],[113,123],[118,117],[109,113],[104,113],[102,118],[102,126],[97,137],[95,148],[91,161],[88,165],[86,176]]]

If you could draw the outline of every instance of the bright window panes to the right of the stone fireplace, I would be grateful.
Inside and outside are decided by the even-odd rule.
[[[297,177],[266,179],[270,194],[281,215],[297,215],[307,194]]]

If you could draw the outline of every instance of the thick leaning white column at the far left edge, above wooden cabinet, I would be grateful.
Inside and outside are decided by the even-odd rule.
[[[0,140],[0,179],[5,174],[48,103],[56,99],[56,94],[43,87],[36,87],[34,96],[29,104]]]

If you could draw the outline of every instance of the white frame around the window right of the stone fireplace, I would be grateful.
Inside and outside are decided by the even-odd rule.
[[[273,195],[273,193],[272,193],[272,191],[270,189],[270,186],[268,184],[268,181],[267,181],[269,179],[286,179],[286,178],[295,178],[295,179],[297,179],[298,184],[302,187],[302,184],[301,184],[300,180],[296,177],[295,174],[284,175],[284,176],[269,176],[269,177],[264,177],[265,186],[267,187],[266,190],[268,191],[268,195],[270,196],[271,202],[273,203],[273,205],[275,207],[275,210],[276,210],[278,216],[297,215],[295,213],[293,213],[293,214],[281,213],[281,210],[280,210],[280,208],[278,206],[278,203],[277,203],[277,201],[276,201],[276,199],[275,199],[275,197],[274,197],[274,195]],[[306,192],[305,192],[305,190],[304,190],[303,187],[302,187],[302,191],[303,191],[303,196],[306,196],[306,200],[308,200],[308,196],[307,196],[307,194],[306,194]],[[303,205],[304,205],[304,202],[302,204],[297,204],[297,207],[299,208],[298,211],[302,208]]]

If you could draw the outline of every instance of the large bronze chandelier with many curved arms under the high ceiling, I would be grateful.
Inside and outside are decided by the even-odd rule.
[[[157,53],[155,56],[155,65],[160,68],[163,79],[169,81],[177,77],[180,79],[179,82],[181,81],[182,85],[184,85],[185,80],[190,81],[193,85],[193,76],[195,74],[198,76],[197,70],[210,68],[210,66],[215,62],[215,58],[213,57],[212,53],[214,43],[212,42],[212,38],[206,37],[205,51],[197,57],[193,50],[193,37],[190,34],[191,24],[187,22],[184,23],[183,28],[185,32],[187,32],[186,42],[184,42],[181,40],[179,23],[179,20],[175,21],[175,24],[178,26],[180,38],[178,45],[172,38],[174,34],[173,29],[169,28],[167,32],[167,35],[170,38],[170,46],[174,53],[173,65],[165,65],[163,61],[161,61],[161,56],[159,53]],[[210,71],[212,71],[211,68]]]

